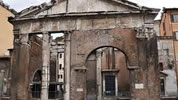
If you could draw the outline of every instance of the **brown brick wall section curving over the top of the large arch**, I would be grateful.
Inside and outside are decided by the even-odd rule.
[[[71,63],[74,66],[85,64],[88,55],[103,46],[118,48],[127,55],[129,65],[138,65],[136,32],[132,28],[73,31],[71,40]]]

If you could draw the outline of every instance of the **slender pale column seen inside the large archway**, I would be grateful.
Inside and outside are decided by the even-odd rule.
[[[96,54],[96,78],[97,78],[97,89],[98,89],[98,95],[97,100],[102,100],[102,74],[101,74],[101,50],[97,50]]]

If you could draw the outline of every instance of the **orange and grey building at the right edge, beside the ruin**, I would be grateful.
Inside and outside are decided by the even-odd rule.
[[[177,96],[177,64],[178,64],[178,9],[164,8],[160,20],[159,64],[163,73],[167,74],[164,95]]]

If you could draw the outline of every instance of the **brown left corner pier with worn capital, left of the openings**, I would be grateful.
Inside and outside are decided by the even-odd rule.
[[[29,50],[30,45],[28,44],[28,34],[21,34],[19,36],[19,49],[17,50],[16,65],[13,68],[14,81],[11,84],[16,84],[14,90],[16,91],[16,98],[12,100],[28,100],[29,96],[29,80],[28,80],[28,68],[29,68]]]

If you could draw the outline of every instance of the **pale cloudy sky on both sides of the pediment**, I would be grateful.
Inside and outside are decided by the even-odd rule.
[[[51,0],[3,0],[6,4],[16,11],[21,11],[32,5],[39,5],[43,2],[50,2]],[[162,8],[162,7],[178,7],[178,0],[130,0],[139,5]]]

